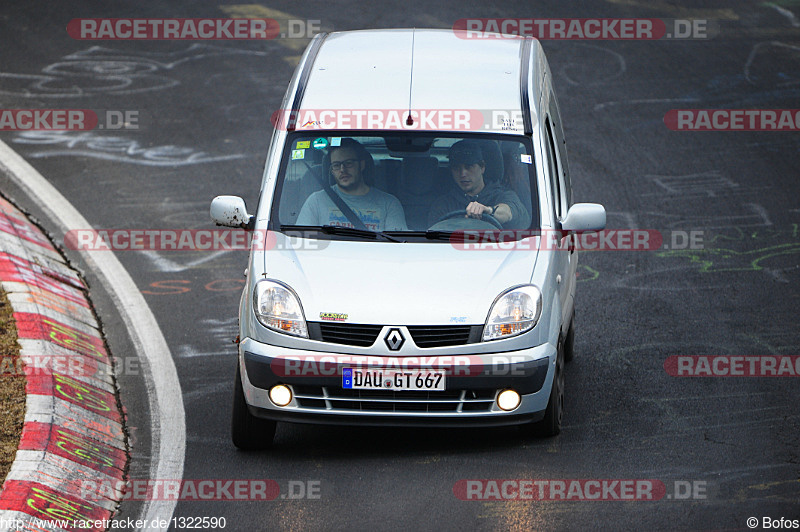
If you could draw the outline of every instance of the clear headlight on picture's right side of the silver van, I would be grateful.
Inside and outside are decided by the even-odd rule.
[[[533,285],[501,294],[486,318],[483,341],[508,338],[532,329],[542,315],[542,293]]]

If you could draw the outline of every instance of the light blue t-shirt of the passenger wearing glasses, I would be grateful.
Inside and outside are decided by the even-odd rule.
[[[338,185],[331,187],[345,204],[361,218],[367,229],[372,231],[407,231],[406,216],[400,201],[382,190],[370,187],[369,192],[363,196],[346,194],[339,190]],[[342,214],[339,207],[328,197],[324,190],[311,194],[300,214],[297,216],[297,225],[336,225],[340,227],[353,227],[353,224]]]

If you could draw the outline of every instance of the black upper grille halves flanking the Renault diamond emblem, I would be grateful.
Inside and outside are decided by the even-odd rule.
[[[308,322],[312,340],[331,344],[370,347],[378,339],[383,325],[360,323]],[[481,341],[481,325],[410,325],[408,332],[418,347],[445,347]]]

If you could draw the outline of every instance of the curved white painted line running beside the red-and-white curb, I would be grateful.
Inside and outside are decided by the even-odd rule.
[[[62,231],[91,227],[53,185],[2,141],[0,167],[59,224]],[[131,340],[145,370],[153,445],[150,478],[183,478],[186,450],[183,394],[178,372],[161,328],[144,296],[116,255],[90,251],[80,253],[110,294],[123,321],[128,324]],[[174,500],[146,501],[140,519],[148,523],[153,519],[169,521],[176,504],[177,501]]]

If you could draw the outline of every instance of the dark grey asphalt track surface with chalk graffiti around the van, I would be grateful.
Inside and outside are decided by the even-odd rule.
[[[232,340],[245,252],[118,252],[177,366],[184,477],[266,478],[283,495],[315,494],[184,501],[175,516],[225,517],[228,530],[723,530],[746,529],[749,517],[759,527],[764,517],[800,519],[800,380],[683,378],[664,368],[677,355],[800,354],[800,133],[671,131],[663,120],[670,109],[798,108],[800,3],[707,4],[181,0],[0,8],[0,107],[138,113],[128,115],[137,129],[0,132],[98,229],[209,229],[208,205],[219,194],[254,207],[269,117],[308,40],[80,41],[65,30],[73,18],[287,16],[347,30],[450,28],[469,17],[628,17],[699,18],[718,27],[708,39],[543,42],[576,201],[604,204],[609,228],[654,229],[668,239],[697,231],[703,242],[703,249],[581,255],[576,358],[558,437],[280,424],[273,450],[238,452],[229,436]],[[41,216],[11,183],[0,188]],[[124,324],[86,274],[112,354],[124,360],[131,352]],[[130,474],[144,478],[147,383],[135,360],[120,371]],[[666,495],[463,501],[454,486],[465,479],[657,479]],[[123,503],[121,516],[136,516],[137,504]]]

